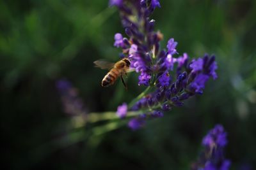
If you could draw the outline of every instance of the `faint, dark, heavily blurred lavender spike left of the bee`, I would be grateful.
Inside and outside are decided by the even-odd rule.
[[[65,79],[58,80],[56,87],[60,92],[61,103],[65,113],[70,116],[84,115],[86,113],[83,101],[78,97],[77,90],[72,87],[69,81]]]

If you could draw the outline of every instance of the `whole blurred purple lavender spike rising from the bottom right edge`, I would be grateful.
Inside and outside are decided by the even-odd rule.
[[[192,170],[228,170],[230,160],[224,157],[224,148],[227,145],[227,133],[222,125],[216,125],[202,141],[204,152],[197,162],[191,165]]]

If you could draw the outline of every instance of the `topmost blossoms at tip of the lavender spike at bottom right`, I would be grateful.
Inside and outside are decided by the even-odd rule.
[[[227,134],[224,131],[222,125],[216,125],[214,129],[209,131],[207,136],[203,139],[203,145],[205,146],[225,146],[227,145]]]

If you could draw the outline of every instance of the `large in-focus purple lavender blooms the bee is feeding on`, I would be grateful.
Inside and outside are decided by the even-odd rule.
[[[116,33],[114,46],[122,48],[122,56],[128,58],[131,67],[140,74],[138,85],[155,88],[129,110],[144,110],[147,115],[169,111],[174,106],[182,106],[189,97],[202,94],[209,78],[217,78],[214,55],[205,54],[193,60],[189,60],[186,53],[179,56],[178,43],[173,38],[168,40],[166,50],[160,49],[163,34],[154,31],[156,21],[150,19],[150,14],[161,7],[159,0],[110,0],[109,4],[118,8],[127,36]],[[145,124],[138,120],[141,117],[132,119],[129,127],[138,129]],[[140,122],[141,125],[136,125]]]

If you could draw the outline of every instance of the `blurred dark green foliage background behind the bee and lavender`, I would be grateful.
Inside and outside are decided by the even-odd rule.
[[[152,18],[162,48],[173,37],[180,54],[214,53],[219,78],[139,131],[124,125],[91,135],[104,123],[74,125],[55,83],[67,78],[87,113],[115,111],[145,89],[136,73],[128,92],[119,80],[100,87],[106,71],[93,61],[115,62],[121,52],[113,47],[114,34],[124,33],[116,8],[103,0],[0,1],[1,169],[189,169],[215,124],[228,132],[231,169],[256,168],[256,1],[160,3]]]

